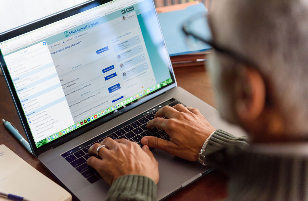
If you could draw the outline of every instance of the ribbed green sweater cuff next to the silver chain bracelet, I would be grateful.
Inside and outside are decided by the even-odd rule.
[[[218,129],[214,132],[205,147],[205,155],[217,152],[227,146],[235,145],[241,150],[247,148],[248,138],[247,137],[235,137],[228,132]]]

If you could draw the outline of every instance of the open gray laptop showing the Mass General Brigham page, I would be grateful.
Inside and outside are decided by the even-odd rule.
[[[140,146],[143,136],[170,140],[146,128],[165,105],[197,107],[215,128],[240,132],[177,87],[152,0],[88,1],[0,34],[0,50],[34,156],[79,200],[101,200],[109,189],[87,166],[88,148],[106,137]],[[151,151],[158,200],[211,170]]]

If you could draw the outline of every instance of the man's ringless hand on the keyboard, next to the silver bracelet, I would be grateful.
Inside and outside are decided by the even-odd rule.
[[[189,161],[198,159],[205,140],[215,131],[197,108],[184,107],[182,104],[161,108],[147,127],[163,129],[171,140],[146,136],[141,139],[142,144]]]

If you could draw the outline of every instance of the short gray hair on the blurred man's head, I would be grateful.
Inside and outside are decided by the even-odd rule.
[[[215,6],[224,30],[215,33],[217,42],[254,61],[291,129],[307,129],[308,0],[220,0]]]

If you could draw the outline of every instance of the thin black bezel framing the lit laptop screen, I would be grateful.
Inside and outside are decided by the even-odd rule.
[[[155,10],[156,18],[157,18],[157,21],[158,21],[158,24],[159,24],[159,27],[160,27],[160,23],[159,23],[159,20],[158,20],[158,17],[157,17],[157,12],[156,12],[153,0],[146,0],[146,1],[149,1],[150,3],[153,4],[153,9]],[[66,10],[59,11],[58,13],[51,14],[47,17],[35,20],[33,22],[27,23],[25,25],[19,26],[17,28],[12,29],[12,30],[8,30],[6,32],[1,33],[0,34],[0,41],[6,41],[6,40],[11,39],[13,37],[25,34],[25,33],[30,32],[32,30],[35,30],[35,29],[38,29],[40,27],[49,25],[53,22],[57,22],[59,20],[62,20],[64,18],[70,17],[72,15],[81,13],[85,10],[94,8],[96,6],[102,5],[102,4],[107,3],[107,2],[110,2],[110,0],[91,0],[91,1],[88,1],[88,2],[85,2],[85,3],[73,6],[71,8],[66,9]],[[160,30],[158,30],[158,31],[160,31],[160,33],[162,34],[161,27],[160,27]],[[163,38],[163,41],[164,41],[163,34],[162,34],[162,38]],[[167,50],[165,41],[164,41],[164,46],[165,46],[165,49],[166,49],[166,53],[168,54],[168,50]],[[1,65],[2,72],[3,72],[3,76],[5,78],[6,84],[8,86],[11,97],[13,99],[13,102],[14,102],[15,108],[17,110],[19,119],[22,123],[22,127],[24,128],[24,131],[26,133],[26,137],[27,137],[27,139],[28,139],[28,141],[31,145],[31,148],[33,150],[33,154],[36,157],[39,156],[39,154],[47,151],[48,149],[55,148],[55,147],[57,147],[61,144],[64,144],[67,141],[72,140],[75,137],[80,136],[80,135],[84,134],[85,132],[88,132],[91,129],[97,127],[97,126],[99,126],[103,123],[106,123],[107,121],[114,119],[115,117],[120,116],[123,113],[128,112],[129,110],[131,110],[133,108],[136,108],[140,104],[143,104],[144,102],[149,101],[152,98],[159,96],[160,94],[164,93],[165,91],[167,91],[167,90],[169,90],[173,87],[176,87],[176,80],[175,80],[175,76],[174,76],[174,72],[173,72],[173,69],[172,69],[172,64],[171,64],[169,55],[168,55],[168,61],[169,61],[168,67],[169,67],[172,83],[170,83],[170,84],[168,84],[164,87],[161,87],[160,89],[156,90],[153,93],[148,94],[147,96],[145,96],[141,99],[138,99],[138,101],[133,102],[132,104],[128,105],[126,108],[121,109],[120,110],[121,112],[118,111],[118,112],[115,112],[115,113],[111,113],[110,115],[107,115],[106,117],[98,118],[97,120],[94,120],[93,122],[90,122],[89,124],[87,124],[83,127],[80,127],[79,129],[76,129],[75,131],[71,132],[68,135],[63,135],[62,137],[60,137],[56,140],[53,140],[53,141],[51,141],[47,144],[44,144],[43,146],[41,146],[39,148],[36,148],[32,133],[30,131],[30,127],[27,123],[26,117],[25,117],[24,112],[22,110],[20,100],[19,100],[17,93],[15,91],[13,81],[10,77],[7,66],[5,64],[3,54],[0,50],[0,65]]]

